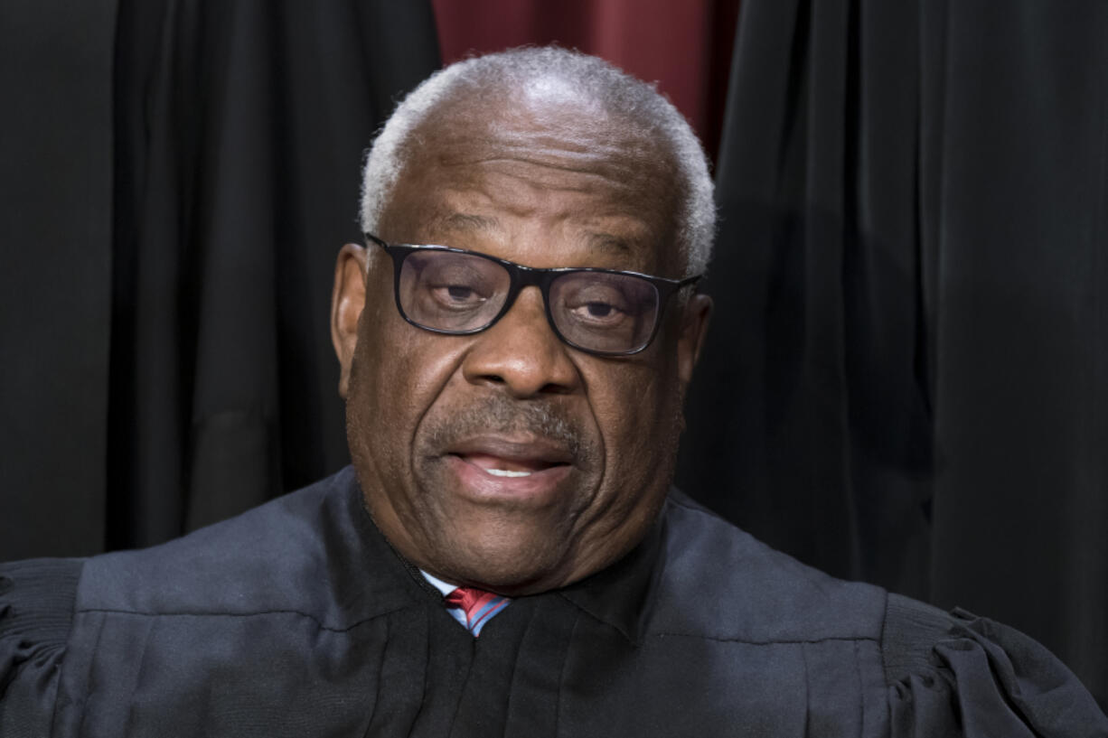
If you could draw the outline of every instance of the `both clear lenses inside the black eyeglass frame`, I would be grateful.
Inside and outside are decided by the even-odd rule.
[[[503,265],[472,254],[413,252],[400,269],[400,307],[434,330],[488,327],[511,289]],[[550,286],[550,315],[562,337],[581,348],[619,353],[642,348],[654,331],[658,291],[633,275],[567,271]]]

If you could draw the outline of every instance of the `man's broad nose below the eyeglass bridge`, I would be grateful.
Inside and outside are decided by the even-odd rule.
[[[513,397],[568,393],[581,376],[568,346],[554,334],[537,287],[524,287],[509,311],[475,336],[462,372],[474,385],[501,386]]]

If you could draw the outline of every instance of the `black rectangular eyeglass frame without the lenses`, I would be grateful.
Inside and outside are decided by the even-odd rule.
[[[551,330],[554,331],[554,335],[557,336],[558,339],[561,339],[566,346],[572,346],[578,351],[584,351],[594,356],[632,356],[640,351],[645,351],[646,348],[654,342],[655,337],[658,335],[658,329],[661,327],[661,319],[665,316],[669,298],[680,289],[688,287],[689,285],[695,285],[704,276],[696,275],[694,277],[686,277],[685,279],[668,279],[666,277],[655,277],[654,275],[642,274],[638,271],[622,271],[619,269],[602,269],[598,267],[529,267],[523,264],[509,262],[507,259],[497,258],[489,254],[482,254],[481,252],[471,252],[465,248],[454,248],[453,246],[439,246],[434,244],[390,244],[382,238],[378,238],[371,233],[365,233],[362,235],[366,237],[367,242],[377,244],[384,249],[384,253],[392,259],[392,297],[396,300],[397,310],[400,312],[401,318],[417,328],[445,336],[470,336],[472,334],[480,334],[482,330],[488,330],[496,325],[496,322],[504,317],[510,309],[512,309],[512,306],[515,305],[515,298],[519,297],[520,291],[524,287],[537,287],[543,295],[543,308],[546,311],[546,322],[550,325]],[[408,317],[408,314],[404,312],[403,306],[400,304],[400,268],[403,265],[404,259],[408,258],[409,255],[417,252],[451,252],[453,254],[465,254],[488,259],[504,267],[509,277],[507,295],[504,297],[504,305],[500,308],[500,311],[489,320],[489,322],[478,328],[450,330],[445,328],[431,328],[430,326],[416,322]],[[560,276],[579,271],[638,277],[639,279],[645,279],[650,284],[650,286],[654,287],[658,295],[658,312],[654,317],[654,327],[650,328],[650,335],[646,338],[642,346],[627,351],[603,351],[598,349],[591,349],[571,341],[562,334],[561,330],[558,330],[557,325],[554,322],[554,315],[551,312],[551,284]]]

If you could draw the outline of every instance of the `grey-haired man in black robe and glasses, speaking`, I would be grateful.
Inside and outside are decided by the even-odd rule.
[[[369,155],[332,335],[353,470],[145,552],[0,570],[0,729],[53,736],[1094,736],[1026,637],[832,580],[671,492],[702,153],[531,49]]]

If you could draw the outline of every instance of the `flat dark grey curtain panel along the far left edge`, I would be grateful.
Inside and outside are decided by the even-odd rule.
[[[116,3],[0,3],[0,558],[103,546]]]

